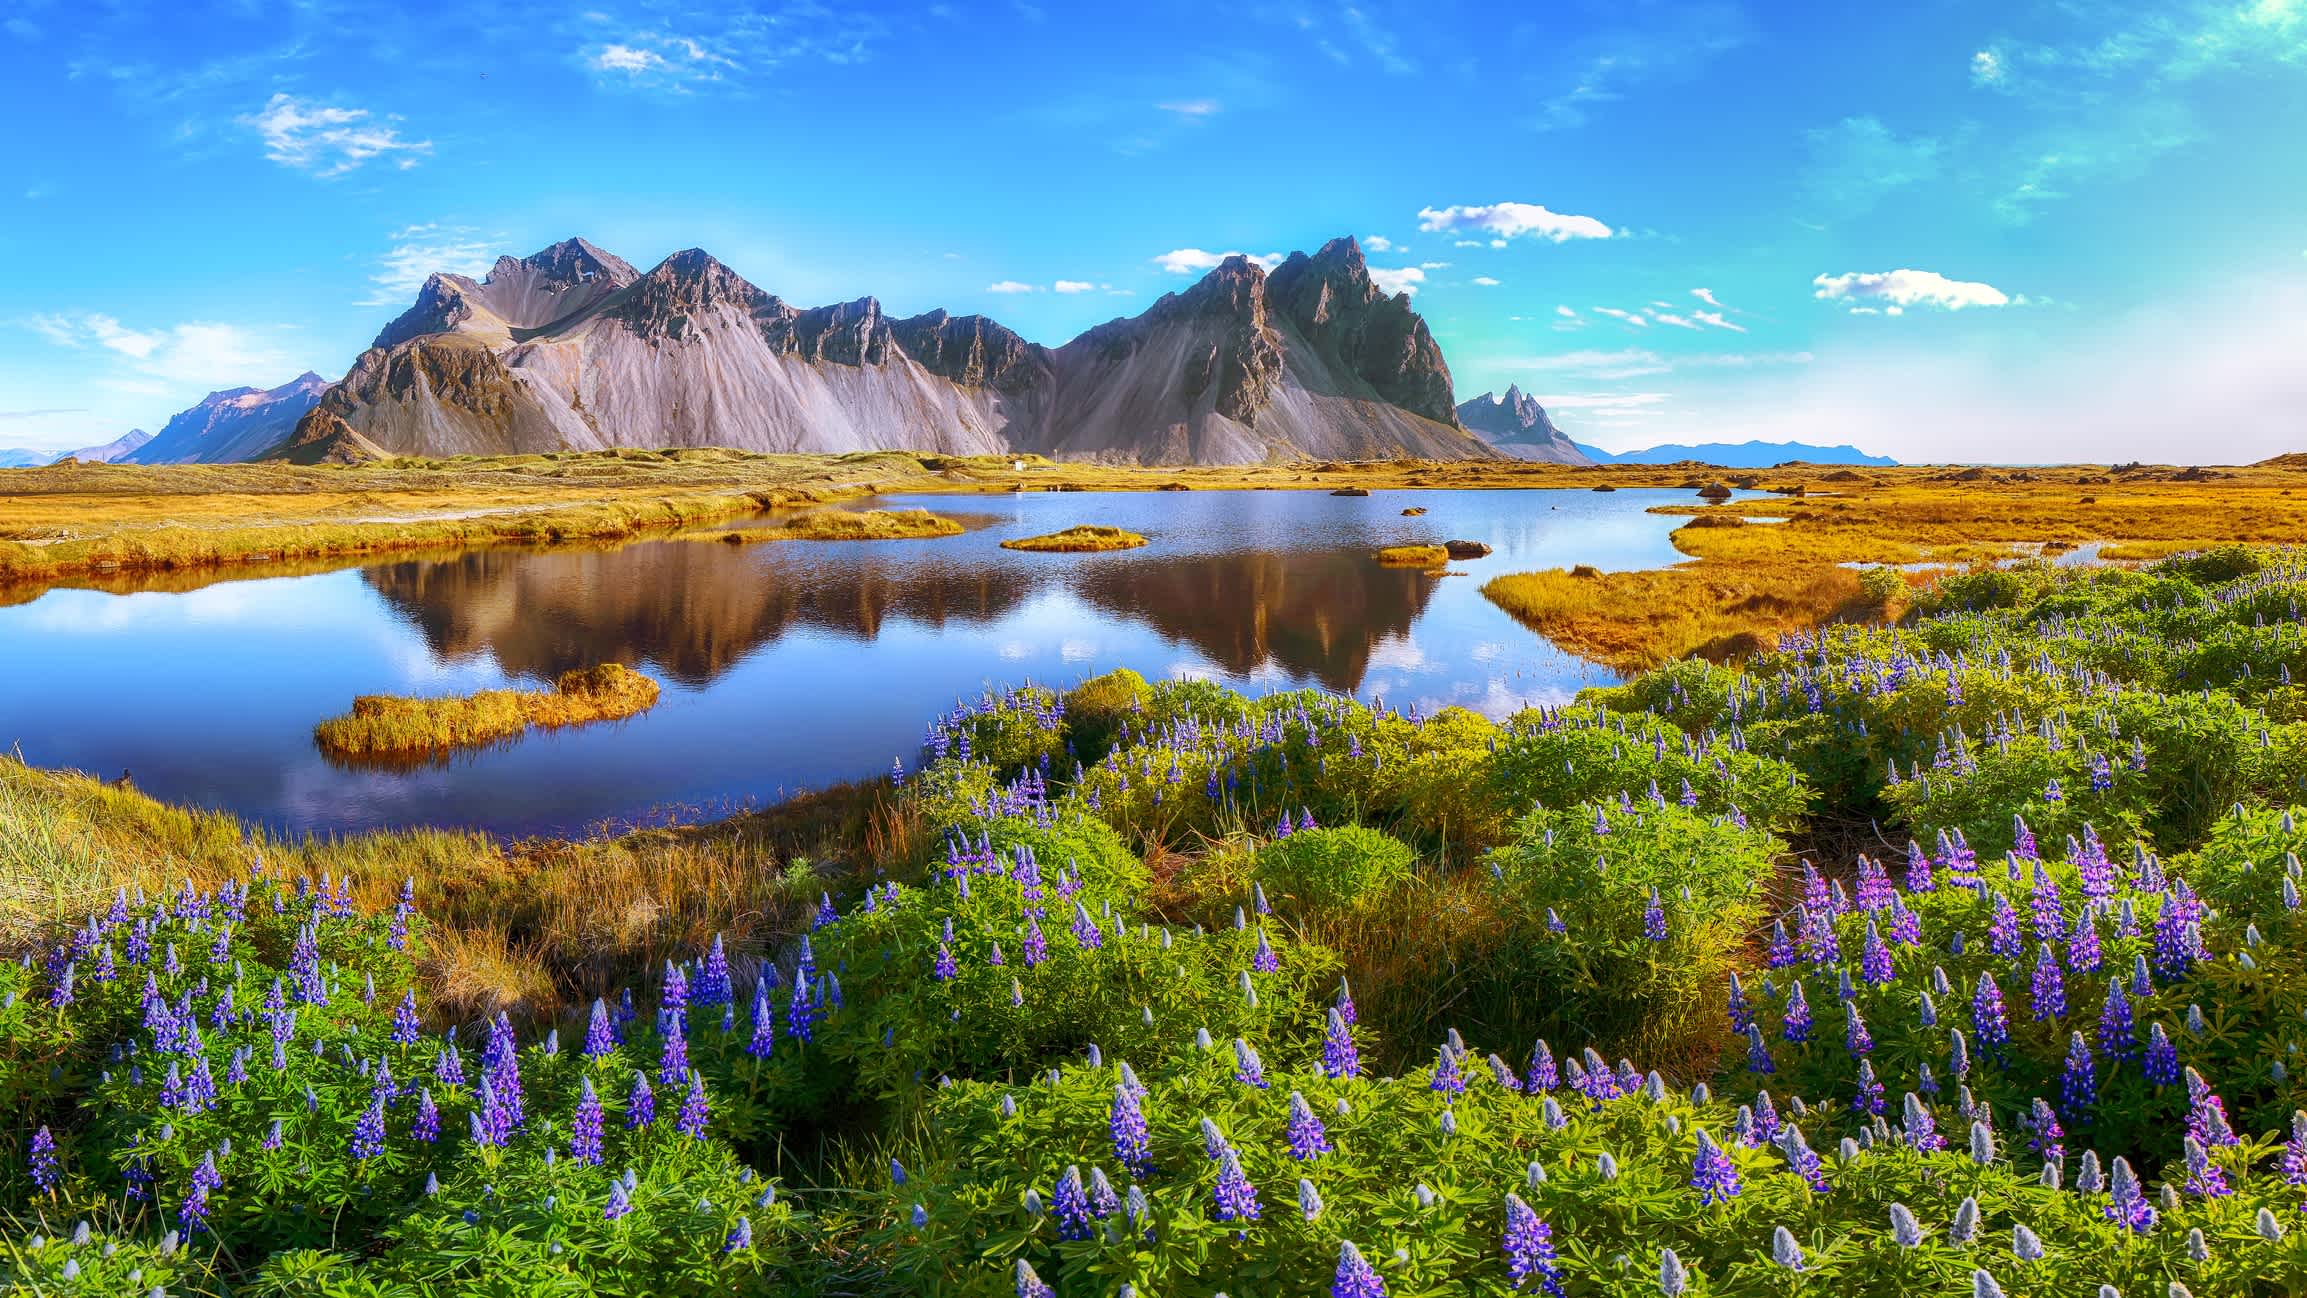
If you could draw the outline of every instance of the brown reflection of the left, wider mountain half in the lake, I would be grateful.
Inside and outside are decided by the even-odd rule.
[[[891,618],[992,622],[1027,595],[1020,572],[941,560],[791,563],[697,542],[598,553],[482,551],[365,569],[436,655],[487,650],[505,673],[653,664],[708,685],[791,627],[874,639]]]

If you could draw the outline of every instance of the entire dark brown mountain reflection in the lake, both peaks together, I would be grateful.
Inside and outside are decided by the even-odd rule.
[[[1276,666],[1354,689],[1370,646],[1416,622],[1433,576],[1363,551],[1105,558],[1073,567],[1010,556],[877,560],[669,542],[616,551],[480,551],[369,567],[362,579],[436,655],[487,650],[503,671],[549,678],[595,662],[653,664],[683,685],[791,627],[874,639],[900,618],[985,625],[1057,581],[1089,604],[1188,643],[1225,671]]]

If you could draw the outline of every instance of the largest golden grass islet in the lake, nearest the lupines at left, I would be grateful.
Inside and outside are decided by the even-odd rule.
[[[657,705],[655,680],[618,662],[563,671],[551,689],[482,689],[448,699],[362,694],[314,726],[321,752],[344,761],[406,761],[484,747],[531,729],[618,722]]]

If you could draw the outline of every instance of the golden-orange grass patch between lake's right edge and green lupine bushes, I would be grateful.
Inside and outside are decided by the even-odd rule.
[[[1640,671],[1677,657],[1733,659],[1781,632],[1878,616],[1848,567],[1700,563],[1652,572],[1516,572],[1483,588],[1557,646]]]

